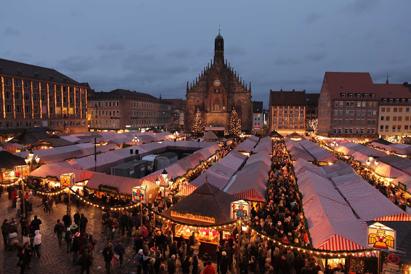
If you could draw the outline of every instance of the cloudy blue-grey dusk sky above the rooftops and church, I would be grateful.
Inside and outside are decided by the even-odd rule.
[[[54,68],[96,91],[185,98],[225,57],[252,100],[270,89],[320,92],[326,71],[411,82],[411,1],[5,1],[0,57]]]

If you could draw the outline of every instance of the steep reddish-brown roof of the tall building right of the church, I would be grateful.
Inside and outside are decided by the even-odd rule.
[[[341,99],[341,93],[361,93],[359,100],[371,100],[371,96],[364,97],[362,93],[376,93],[371,76],[368,72],[329,72],[324,76],[327,80],[331,99]],[[345,95],[346,98],[348,97]],[[353,96],[350,100],[356,100]],[[372,99],[375,100],[375,99]]]

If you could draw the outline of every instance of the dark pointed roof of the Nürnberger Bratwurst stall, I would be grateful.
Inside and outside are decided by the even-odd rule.
[[[213,225],[221,225],[227,223],[234,223],[230,219],[231,202],[237,201],[238,198],[230,195],[217,187],[206,182],[198,187],[190,195],[183,198],[180,202],[163,211],[162,216],[167,219],[178,221],[185,224],[192,225],[210,225],[210,223],[202,222],[200,220],[188,220],[177,217],[171,217],[171,211],[181,213],[192,213],[198,216],[207,216],[215,218]]]

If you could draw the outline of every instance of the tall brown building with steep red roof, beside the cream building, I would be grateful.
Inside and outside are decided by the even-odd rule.
[[[379,102],[368,72],[326,72],[318,103],[317,135],[377,137]]]

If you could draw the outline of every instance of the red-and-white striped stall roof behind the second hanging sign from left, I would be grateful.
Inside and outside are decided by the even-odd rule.
[[[76,180],[76,182],[83,182],[90,179],[91,175],[94,172],[88,170],[80,170],[76,168],[59,167],[55,164],[50,164],[42,165],[38,169],[31,171],[29,176],[36,178],[50,177],[60,180],[60,175],[66,173],[74,173],[74,179]]]

